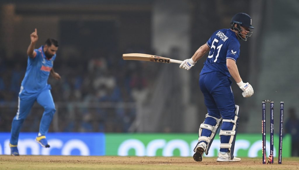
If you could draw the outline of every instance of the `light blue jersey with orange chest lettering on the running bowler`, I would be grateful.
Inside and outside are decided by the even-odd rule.
[[[21,84],[23,89],[28,93],[40,92],[48,85],[48,78],[56,54],[48,60],[43,49],[43,45],[39,49],[34,49],[36,56],[34,58],[28,57],[25,77]]]

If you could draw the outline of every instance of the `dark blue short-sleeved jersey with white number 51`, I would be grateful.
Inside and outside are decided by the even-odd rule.
[[[210,37],[207,44],[211,49],[200,75],[221,72],[231,77],[226,66],[226,59],[237,61],[240,54],[240,43],[234,31],[231,29],[218,30]]]

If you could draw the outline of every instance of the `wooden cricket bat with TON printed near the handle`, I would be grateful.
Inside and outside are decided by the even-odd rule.
[[[123,54],[123,60],[153,61],[158,63],[178,63],[178,64],[181,64],[183,62],[180,60],[173,60],[166,57],[159,57],[155,55],[141,54],[141,53]]]

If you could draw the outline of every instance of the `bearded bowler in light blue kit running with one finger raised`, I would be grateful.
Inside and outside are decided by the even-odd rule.
[[[11,124],[9,146],[13,156],[19,156],[17,145],[20,129],[35,101],[45,109],[40,121],[39,133],[35,140],[42,147],[50,147],[45,135],[48,133],[56,109],[50,91],[51,85],[47,82],[50,74],[56,80],[61,78],[53,69],[53,62],[58,50],[57,40],[49,38],[46,40],[45,45],[34,49],[38,40],[36,29],[30,34],[30,39],[31,43],[27,50],[27,69],[19,92],[18,111]]]

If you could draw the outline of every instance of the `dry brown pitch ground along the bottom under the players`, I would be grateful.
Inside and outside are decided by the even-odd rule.
[[[0,169],[298,169],[299,157],[283,158],[283,164],[262,164],[261,158],[242,158],[238,163],[219,163],[204,157],[107,157],[107,156],[19,156],[0,155]]]

